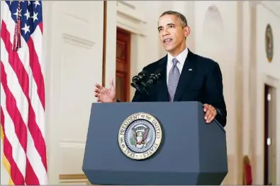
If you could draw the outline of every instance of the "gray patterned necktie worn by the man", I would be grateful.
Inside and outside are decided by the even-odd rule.
[[[167,84],[170,102],[173,102],[174,95],[177,89],[177,84],[179,82],[179,77],[180,77],[180,71],[179,68],[177,67],[177,62],[179,61],[176,58],[174,58],[172,62],[173,62],[173,66],[169,71],[169,78]]]

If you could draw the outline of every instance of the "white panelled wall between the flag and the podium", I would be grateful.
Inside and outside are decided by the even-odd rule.
[[[103,1],[45,1],[50,184],[82,174],[94,83],[102,82]]]

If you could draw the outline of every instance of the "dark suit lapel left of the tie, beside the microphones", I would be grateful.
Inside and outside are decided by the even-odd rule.
[[[167,55],[159,62],[159,68],[162,69],[162,78],[159,80],[158,85],[158,102],[169,102],[168,89],[167,89]]]

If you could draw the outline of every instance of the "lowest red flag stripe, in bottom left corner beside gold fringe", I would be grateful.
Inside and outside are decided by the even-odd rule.
[[[1,126],[3,129],[4,133],[4,140],[3,140],[3,146],[4,146],[4,155],[9,161],[11,165],[11,179],[13,180],[14,185],[23,185],[24,179],[23,175],[21,174],[21,171],[18,169],[18,165],[16,165],[16,162],[13,160],[13,150],[11,147],[11,143],[9,142],[8,138],[6,138],[6,133],[5,133],[5,116],[1,107]]]

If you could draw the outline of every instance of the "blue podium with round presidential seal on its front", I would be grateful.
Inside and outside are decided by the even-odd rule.
[[[225,130],[200,102],[94,103],[82,170],[94,185],[220,185]]]

